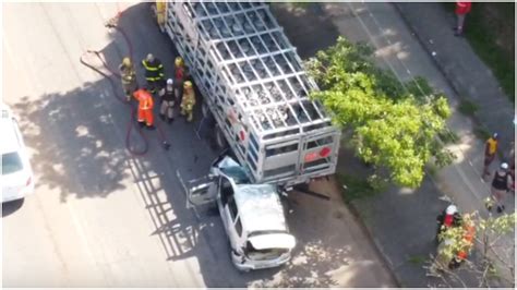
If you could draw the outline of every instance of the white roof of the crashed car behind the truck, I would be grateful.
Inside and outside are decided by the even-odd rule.
[[[237,185],[235,200],[245,231],[287,231],[284,207],[275,185]]]

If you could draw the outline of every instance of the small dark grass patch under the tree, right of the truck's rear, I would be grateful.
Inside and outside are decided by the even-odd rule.
[[[354,200],[374,196],[380,192],[365,178],[342,173],[337,173],[337,178],[341,185],[342,198],[347,204]]]

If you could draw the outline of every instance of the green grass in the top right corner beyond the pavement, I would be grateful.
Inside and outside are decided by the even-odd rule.
[[[445,8],[454,11],[455,3],[445,3]],[[509,100],[515,102],[515,45],[508,43],[515,38],[515,3],[472,3],[465,27],[470,46],[492,70]]]

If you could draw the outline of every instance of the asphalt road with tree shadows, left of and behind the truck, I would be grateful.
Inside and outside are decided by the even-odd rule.
[[[170,150],[145,131],[149,152],[132,156],[124,148],[130,108],[79,62],[96,49],[117,68],[128,48],[103,25],[123,11],[120,26],[136,60],[153,52],[170,75],[176,51],[148,3],[127,5],[3,4],[2,95],[20,117],[36,176],[33,196],[2,206],[3,286],[393,286],[334,197],[291,196],[288,220],[299,241],[292,263],[249,274],[233,268],[219,218],[187,209],[176,178],[177,170],[185,179],[205,174],[216,155],[209,140],[197,138],[199,122],[159,123]],[[130,138],[143,145],[134,132]]]

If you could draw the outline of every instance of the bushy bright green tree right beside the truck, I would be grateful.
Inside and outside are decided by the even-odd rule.
[[[453,159],[436,138],[450,109],[423,78],[401,83],[375,67],[372,53],[342,37],[318,51],[306,62],[322,89],[311,97],[325,106],[336,125],[352,132],[356,155],[375,167],[375,176],[417,188],[428,162],[444,166]]]

